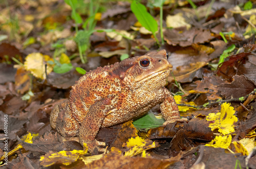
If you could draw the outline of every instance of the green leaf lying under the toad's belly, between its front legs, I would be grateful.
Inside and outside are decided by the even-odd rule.
[[[146,116],[133,122],[133,125],[139,129],[150,129],[162,126],[164,119],[157,119],[152,112],[149,112]]]

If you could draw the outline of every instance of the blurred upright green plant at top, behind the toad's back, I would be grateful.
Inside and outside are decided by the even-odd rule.
[[[97,1],[90,0],[90,15],[86,20],[82,20],[82,17],[79,13],[77,13],[77,9],[79,7],[79,2],[77,0],[65,0],[65,2],[71,7],[71,18],[75,21],[75,30],[76,37],[75,41],[78,46],[79,55],[81,62],[84,64],[87,62],[85,57],[87,49],[90,47],[89,38],[91,34],[94,32],[94,28],[96,26],[97,20],[95,20],[95,15],[99,9],[99,5]],[[82,23],[83,30],[78,30],[78,24]]]

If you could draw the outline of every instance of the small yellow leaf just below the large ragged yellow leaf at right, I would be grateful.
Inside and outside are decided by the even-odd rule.
[[[211,140],[211,142],[206,144],[205,146],[227,149],[231,143],[231,139],[231,135],[216,136],[214,140]]]

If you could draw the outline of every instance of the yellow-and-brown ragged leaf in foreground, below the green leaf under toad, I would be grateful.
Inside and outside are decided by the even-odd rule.
[[[143,153],[145,150],[153,149],[158,147],[155,142],[150,139],[143,139],[139,136],[130,138],[123,147],[130,148],[130,150],[124,153],[124,156],[135,156],[137,154]]]

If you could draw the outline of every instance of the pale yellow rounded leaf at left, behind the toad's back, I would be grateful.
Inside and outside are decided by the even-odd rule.
[[[24,66],[25,69],[27,71],[30,71],[35,77],[38,77],[40,79],[46,79],[46,72],[47,74],[49,74],[53,70],[53,66],[48,64],[48,61],[53,61],[53,59],[50,58],[49,55],[43,55],[41,53],[31,53],[27,55]],[[46,64],[47,69],[45,69]]]

